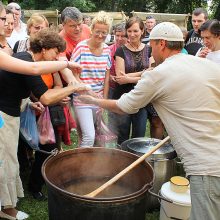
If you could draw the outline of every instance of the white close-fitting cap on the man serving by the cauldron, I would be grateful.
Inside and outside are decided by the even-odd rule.
[[[184,41],[180,28],[171,22],[162,22],[150,32],[150,40]]]

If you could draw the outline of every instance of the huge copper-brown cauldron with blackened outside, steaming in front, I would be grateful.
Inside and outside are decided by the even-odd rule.
[[[48,187],[49,219],[144,220],[147,191],[154,178],[146,161],[96,198],[83,196],[99,187],[94,180],[101,180],[102,185],[136,159],[134,154],[106,148],[78,148],[50,156],[42,167]],[[77,186],[77,193],[67,191],[71,185]]]

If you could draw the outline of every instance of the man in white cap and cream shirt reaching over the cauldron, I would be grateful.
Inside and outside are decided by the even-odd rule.
[[[190,220],[220,216],[220,68],[181,54],[183,34],[170,22],[150,33],[157,66],[119,100],[79,96],[117,113],[134,114],[149,102],[155,107],[190,179]]]

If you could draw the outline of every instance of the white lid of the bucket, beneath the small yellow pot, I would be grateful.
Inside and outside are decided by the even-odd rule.
[[[191,206],[190,189],[185,193],[176,193],[171,190],[170,182],[166,182],[161,187],[161,195],[172,200],[175,204]]]

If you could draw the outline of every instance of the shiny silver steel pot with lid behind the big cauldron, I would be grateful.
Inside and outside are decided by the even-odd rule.
[[[133,138],[124,141],[121,144],[121,149],[142,156],[159,142],[160,140],[153,138]],[[153,193],[158,194],[163,183],[169,181],[176,174],[176,156],[173,146],[167,143],[146,159],[152,165],[155,173]],[[155,196],[150,196],[147,209],[153,210],[159,207],[158,199]]]

